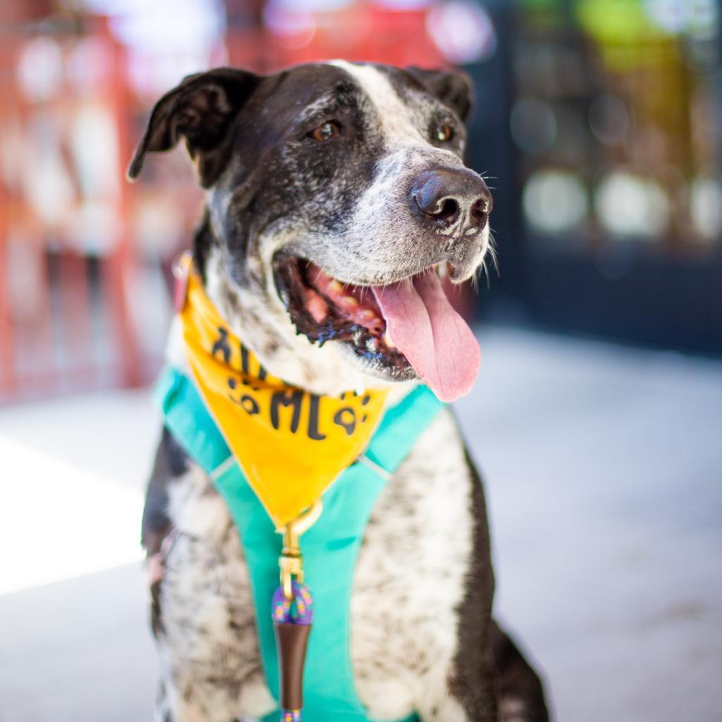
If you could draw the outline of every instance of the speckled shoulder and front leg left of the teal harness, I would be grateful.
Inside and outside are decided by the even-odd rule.
[[[274,708],[261,671],[248,570],[223,500],[167,431],[143,543],[160,657],[156,722],[230,722]]]

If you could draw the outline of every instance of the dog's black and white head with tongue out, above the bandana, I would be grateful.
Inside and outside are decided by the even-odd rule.
[[[451,399],[479,351],[439,276],[469,279],[490,245],[490,193],[461,160],[469,108],[457,72],[216,69],[161,98],[129,175],[186,142],[206,291],[271,373],[321,393],[420,376]]]

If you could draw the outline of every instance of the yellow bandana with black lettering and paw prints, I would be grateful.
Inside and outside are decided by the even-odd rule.
[[[318,396],[274,378],[187,274],[183,338],[201,396],[277,527],[321,498],[373,435],[385,390]]]

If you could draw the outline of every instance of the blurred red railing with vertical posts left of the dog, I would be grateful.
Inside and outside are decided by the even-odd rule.
[[[124,52],[101,20],[83,36],[3,38],[0,399],[143,378],[125,283],[134,250],[120,182]],[[100,165],[116,178],[100,187],[82,147],[95,130],[108,142]]]

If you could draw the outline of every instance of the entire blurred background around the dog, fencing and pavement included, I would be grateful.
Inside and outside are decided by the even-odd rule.
[[[184,75],[463,67],[498,273],[458,404],[498,609],[562,721],[722,708],[719,0],[0,0],[0,720],[151,718],[139,561],[183,152],[124,171]]]

